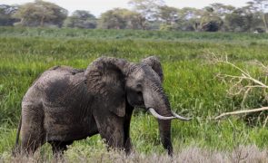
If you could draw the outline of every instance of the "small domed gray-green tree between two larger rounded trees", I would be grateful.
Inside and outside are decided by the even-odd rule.
[[[65,20],[65,26],[70,28],[95,28],[97,20],[88,11],[76,10]]]

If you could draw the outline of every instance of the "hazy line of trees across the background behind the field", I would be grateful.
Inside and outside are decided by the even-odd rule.
[[[163,0],[130,0],[131,10],[114,8],[94,16],[89,11],[68,11],[50,2],[0,5],[0,25],[144,29],[195,32],[268,32],[268,0],[253,0],[242,7],[215,3],[197,9],[175,8]]]

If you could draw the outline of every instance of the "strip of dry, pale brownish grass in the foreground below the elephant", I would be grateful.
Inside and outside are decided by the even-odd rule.
[[[132,153],[125,156],[123,151],[80,151],[80,149],[70,149],[62,158],[52,158],[52,156],[42,156],[36,153],[35,156],[25,158],[18,156],[16,158],[4,154],[0,162],[107,162],[107,163],[164,163],[164,162],[184,162],[184,163],[264,163],[268,162],[268,150],[258,149],[256,146],[240,146],[233,149],[232,152],[201,149],[191,146],[181,151],[175,152],[174,157],[170,158],[166,154],[148,154]]]

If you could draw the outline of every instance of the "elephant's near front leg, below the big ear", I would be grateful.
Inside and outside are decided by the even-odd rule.
[[[112,112],[109,115],[98,114],[94,117],[99,133],[108,148],[124,149],[124,118]]]

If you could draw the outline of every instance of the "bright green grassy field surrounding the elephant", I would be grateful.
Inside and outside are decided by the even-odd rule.
[[[217,157],[232,162],[238,156],[237,149],[249,155],[253,154],[251,149],[254,149],[256,156],[267,158],[268,129],[263,128],[263,119],[267,116],[265,111],[251,116],[253,121],[250,123],[246,116],[212,120],[224,111],[241,110],[243,97],[227,95],[230,85],[216,78],[219,72],[233,75],[239,72],[228,65],[211,64],[204,57],[209,53],[227,55],[231,62],[267,83],[265,74],[252,63],[257,60],[267,65],[267,39],[268,34],[1,27],[0,162],[13,159],[10,153],[15,144],[21,101],[25,91],[40,73],[55,65],[86,68],[100,56],[139,62],[150,55],[158,56],[164,65],[164,90],[173,110],[186,117],[194,117],[190,122],[173,121],[174,158],[191,162],[187,157],[200,155],[212,162]],[[258,92],[249,96],[244,105],[245,108],[261,106],[268,106],[268,102]],[[136,154],[127,158],[129,162],[149,161],[146,156],[158,161],[162,160],[158,157],[166,157],[160,143],[157,121],[151,115],[135,110],[131,137]],[[186,155],[188,151],[192,152]],[[154,156],[154,153],[159,155]],[[41,160],[52,159],[48,145],[40,149],[39,155]],[[123,160],[116,158],[117,155],[122,156],[120,152],[107,153],[99,136],[94,136],[76,141],[65,158],[77,160],[83,156],[83,160],[103,160],[105,156],[115,156],[107,160]],[[250,157],[245,155],[245,160],[252,160],[247,159]]]

